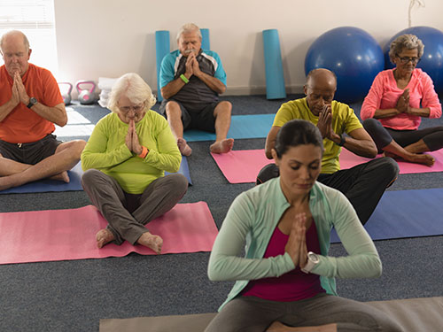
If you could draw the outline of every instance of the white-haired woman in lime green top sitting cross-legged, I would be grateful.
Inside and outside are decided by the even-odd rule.
[[[188,189],[177,172],[182,156],[155,104],[151,88],[136,73],[115,82],[108,107],[82,152],[83,189],[109,225],[97,233],[106,243],[142,244],[160,253],[163,239],[145,224],[172,209]]]

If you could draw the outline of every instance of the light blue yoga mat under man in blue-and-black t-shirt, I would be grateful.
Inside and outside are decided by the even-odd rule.
[[[229,138],[265,138],[276,114],[233,115]],[[183,137],[188,142],[215,141],[215,134],[200,130],[186,130]]]

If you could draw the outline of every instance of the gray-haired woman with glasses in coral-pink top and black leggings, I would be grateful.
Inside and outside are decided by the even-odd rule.
[[[443,147],[443,127],[418,129],[422,117],[441,116],[431,77],[416,68],[423,53],[416,35],[400,35],[391,43],[395,68],[377,74],[361,106],[361,119],[379,152],[432,166],[434,158],[423,152]]]

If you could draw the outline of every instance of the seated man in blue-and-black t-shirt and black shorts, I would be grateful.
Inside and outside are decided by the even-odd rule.
[[[225,153],[232,150],[234,140],[226,138],[230,125],[232,104],[219,102],[226,90],[226,73],[217,53],[201,50],[200,29],[185,24],[177,34],[178,50],[161,62],[160,88],[164,100],[160,112],[166,114],[172,133],[183,156],[192,150],[183,139],[183,130],[195,128],[215,132],[210,151]]]

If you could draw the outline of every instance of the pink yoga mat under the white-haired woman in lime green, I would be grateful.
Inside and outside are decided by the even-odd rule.
[[[109,243],[97,248],[106,220],[93,205],[69,210],[0,213],[0,264],[153,255],[141,245]],[[217,228],[205,202],[175,205],[148,224],[163,238],[162,253],[211,251]]]

